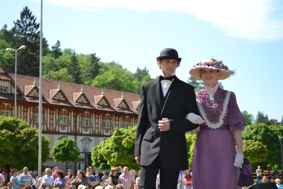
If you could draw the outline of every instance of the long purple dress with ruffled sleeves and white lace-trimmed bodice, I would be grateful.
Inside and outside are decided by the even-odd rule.
[[[196,136],[193,156],[194,189],[241,189],[237,185],[240,169],[234,167],[236,148],[231,131],[244,130],[242,115],[234,92],[220,87],[214,101],[202,89],[196,93],[200,114],[205,121],[200,125],[218,128],[229,125],[230,130],[200,130]]]

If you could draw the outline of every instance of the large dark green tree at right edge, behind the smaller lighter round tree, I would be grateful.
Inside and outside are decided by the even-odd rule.
[[[283,135],[282,125],[267,126],[265,123],[255,123],[248,126],[242,134],[244,140],[259,141],[266,146],[268,155],[267,160],[261,162],[262,167],[281,165],[280,138]]]

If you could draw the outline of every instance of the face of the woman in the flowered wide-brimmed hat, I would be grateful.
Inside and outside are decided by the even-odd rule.
[[[217,78],[220,76],[220,72],[215,69],[205,68],[202,69],[200,76],[205,85],[214,87],[217,83]]]

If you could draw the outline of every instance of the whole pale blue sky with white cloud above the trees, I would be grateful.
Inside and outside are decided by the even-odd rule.
[[[26,5],[40,22],[39,0],[3,1],[0,27],[11,29]],[[152,78],[164,48],[178,51],[176,75],[183,81],[190,67],[213,56],[236,69],[221,82],[235,92],[241,111],[282,119],[280,0],[43,0],[43,35],[50,48],[59,39],[62,49],[96,53],[133,73],[146,67]]]

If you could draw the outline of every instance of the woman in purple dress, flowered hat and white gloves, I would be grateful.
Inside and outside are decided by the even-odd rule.
[[[196,92],[201,116],[194,113],[186,116],[192,123],[200,124],[193,155],[193,188],[241,189],[238,178],[239,167],[244,162],[242,122],[246,118],[237,105],[234,92],[223,90],[218,84],[218,80],[227,79],[235,72],[222,61],[211,59],[196,64],[189,73],[204,82],[204,88]]]

